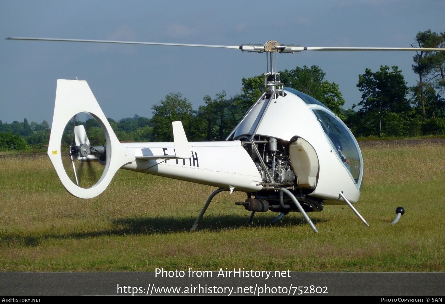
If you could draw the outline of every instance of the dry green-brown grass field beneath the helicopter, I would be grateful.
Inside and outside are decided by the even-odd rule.
[[[62,187],[46,155],[0,158],[0,271],[154,271],[246,268],[291,271],[445,271],[445,144],[362,147],[364,187],[355,207],[325,206],[277,224],[218,194],[188,233],[212,187],[117,172],[99,197]],[[406,210],[400,222],[395,209]]]

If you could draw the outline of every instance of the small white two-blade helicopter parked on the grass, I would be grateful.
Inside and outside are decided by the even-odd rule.
[[[27,37],[7,39],[227,48],[266,53],[263,94],[252,103],[224,141],[188,142],[182,123],[175,121],[172,123],[174,142],[120,142],[85,80],[57,80],[48,155],[66,190],[79,198],[93,198],[108,187],[119,169],[218,187],[208,197],[190,232],[198,228],[214,196],[223,191],[247,194],[244,202],[235,202],[251,212],[247,224],[251,223],[255,212],[278,213],[273,222],[289,212],[300,212],[312,230],[318,232],[307,213],[321,212],[325,205],[346,203],[369,226],[352,205],[360,198],[364,173],[363,158],[355,137],[320,101],[284,87],[276,70],[277,56],[303,51],[445,51],[445,48],[303,47],[279,44],[275,40],[227,46]],[[91,144],[85,127],[76,125],[79,113],[88,113],[97,120],[105,135],[105,145]],[[61,142],[65,126],[71,121],[69,148],[65,151],[73,169],[69,176],[62,161]],[[82,166],[90,161],[103,165],[103,173],[95,184],[82,187],[76,162]]]

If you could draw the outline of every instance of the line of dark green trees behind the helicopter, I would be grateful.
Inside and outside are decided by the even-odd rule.
[[[416,35],[414,48],[445,47],[445,32],[430,30]],[[296,67],[280,71],[280,80],[310,95],[330,108],[352,130],[362,136],[420,136],[445,134],[445,52],[419,52],[413,57],[413,72],[419,76],[417,84],[408,87],[397,66],[380,66],[380,70],[366,68],[359,75],[357,87],[362,100],[344,110],[344,99],[338,84],[325,79],[317,66]],[[119,140],[137,142],[173,141],[171,122],[181,120],[190,141],[223,140],[235,127],[252,103],[261,96],[264,76],[242,79],[241,92],[227,97],[226,92],[214,97],[203,97],[205,105],[197,110],[181,93],[170,93],[152,107],[151,119],[135,115],[118,121],[108,119]],[[357,108],[357,110],[356,110]],[[103,140],[96,120],[84,124],[89,138]],[[67,131],[71,129],[67,124]],[[49,124],[43,121],[28,123],[0,120],[0,150],[24,149],[48,144]]]

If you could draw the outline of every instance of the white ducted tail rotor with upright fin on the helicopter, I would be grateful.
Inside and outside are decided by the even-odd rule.
[[[79,117],[92,125],[90,136]],[[64,187],[80,198],[99,195],[119,168],[134,161],[82,80],[57,80],[48,155]]]

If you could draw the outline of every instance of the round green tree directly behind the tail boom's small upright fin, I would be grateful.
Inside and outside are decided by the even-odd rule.
[[[192,105],[187,98],[182,97],[181,93],[170,93],[160,104],[153,107],[153,132],[155,141],[173,141],[173,132],[171,123],[173,121],[182,121],[184,131],[190,131],[190,116],[194,115]]]

